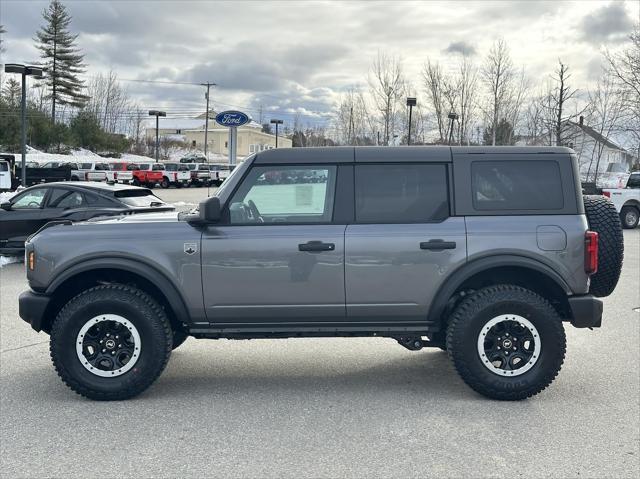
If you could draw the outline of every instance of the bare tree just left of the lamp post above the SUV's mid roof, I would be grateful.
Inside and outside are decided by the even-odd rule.
[[[396,132],[400,99],[404,92],[401,59],[378,52],[370,70],[369,86],[374,104],[381,115],[384,144],[389,145]]]

